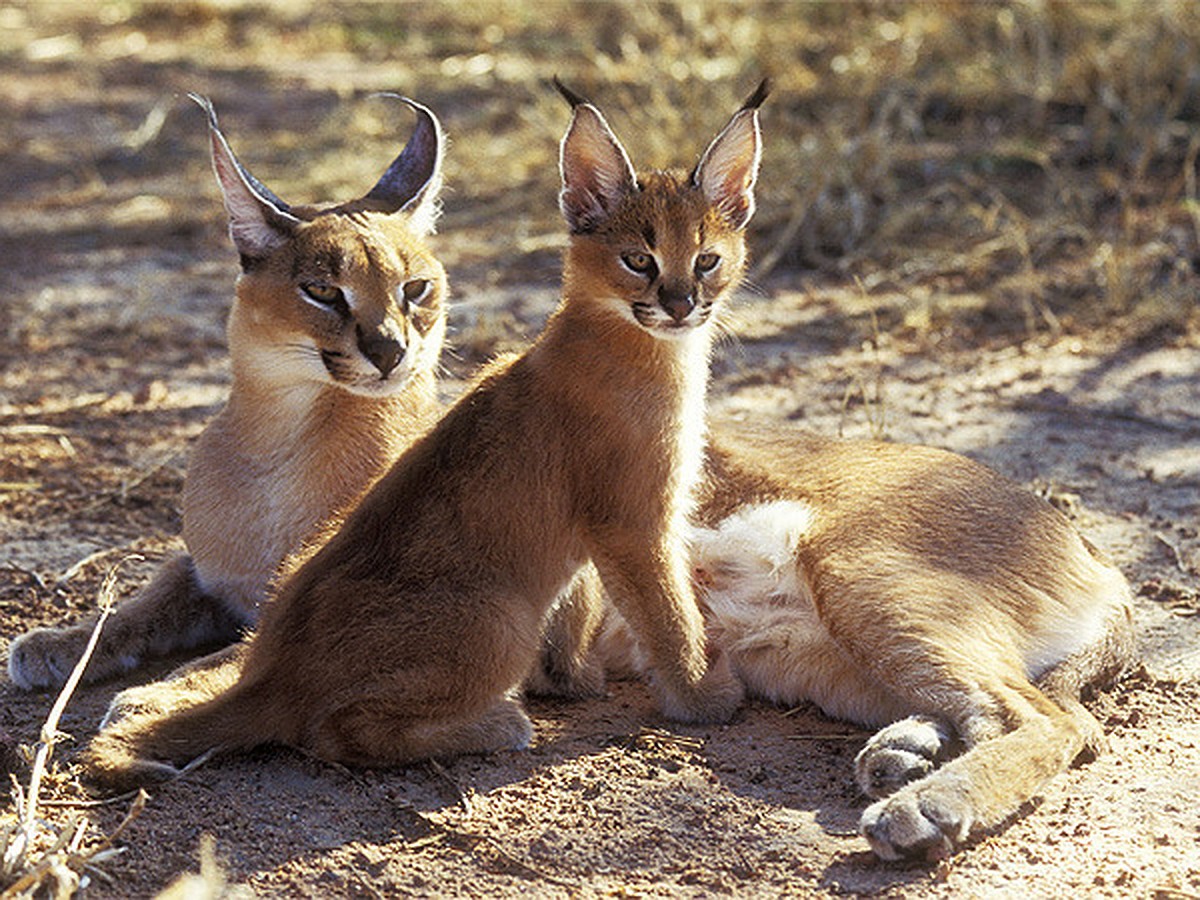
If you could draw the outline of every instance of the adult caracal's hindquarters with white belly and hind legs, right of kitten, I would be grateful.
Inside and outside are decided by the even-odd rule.
[[[1050,504],[962,456],[716,426],[692,534],[718,646],[750,694],[886,726],[856,760],[884,859],[1015,814],[1099,722],[1130,592]]]

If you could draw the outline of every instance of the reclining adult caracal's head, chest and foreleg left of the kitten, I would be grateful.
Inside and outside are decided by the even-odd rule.
[[[187,553],[106,624],[90,680],[150,656],[234,641],[283,558],[353,503],[438,413],[446,278],[424,239],[444,139],[416,126],[362,198],[289,206],[234,157],[208,101],[212,169],[241,257],[229,313],[229,401],[200,434],[184,487]],[[17,638],[10,678],[61,684],[91,624]]]

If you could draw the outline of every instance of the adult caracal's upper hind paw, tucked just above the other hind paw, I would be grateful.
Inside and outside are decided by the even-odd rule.
[[[953,743],[949,727],[936,719],[901,719],[875,734],[854,757],[854,780],[868,797],[887,797],[942,764]]]

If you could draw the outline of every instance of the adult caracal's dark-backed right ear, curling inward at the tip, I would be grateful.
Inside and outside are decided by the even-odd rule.
[[[428,107],[397,94],[379,94],[407,103],[416,113],[416,127],[403,151],[364,197],[362,204],[380,212],[408,212],[420,234],[431,234],[438,217],[438,192],[442,190],[442,157],[445,136],[442,124]]]

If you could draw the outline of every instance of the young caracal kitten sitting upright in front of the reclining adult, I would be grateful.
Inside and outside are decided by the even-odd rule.
[[[571,97],[571,238],[540,337],[485,372],[298,563],[242,652],[199,673],[223,692],[102,730],[86,754],[96,779],[152,780],[264,742],[368,764],[526,746],[516,691],[588,559],[646,648],[666,714],[732,714],[742,686],[706,653],[684,534],[764,97],[690,175],[635,174],[599,110]]]

